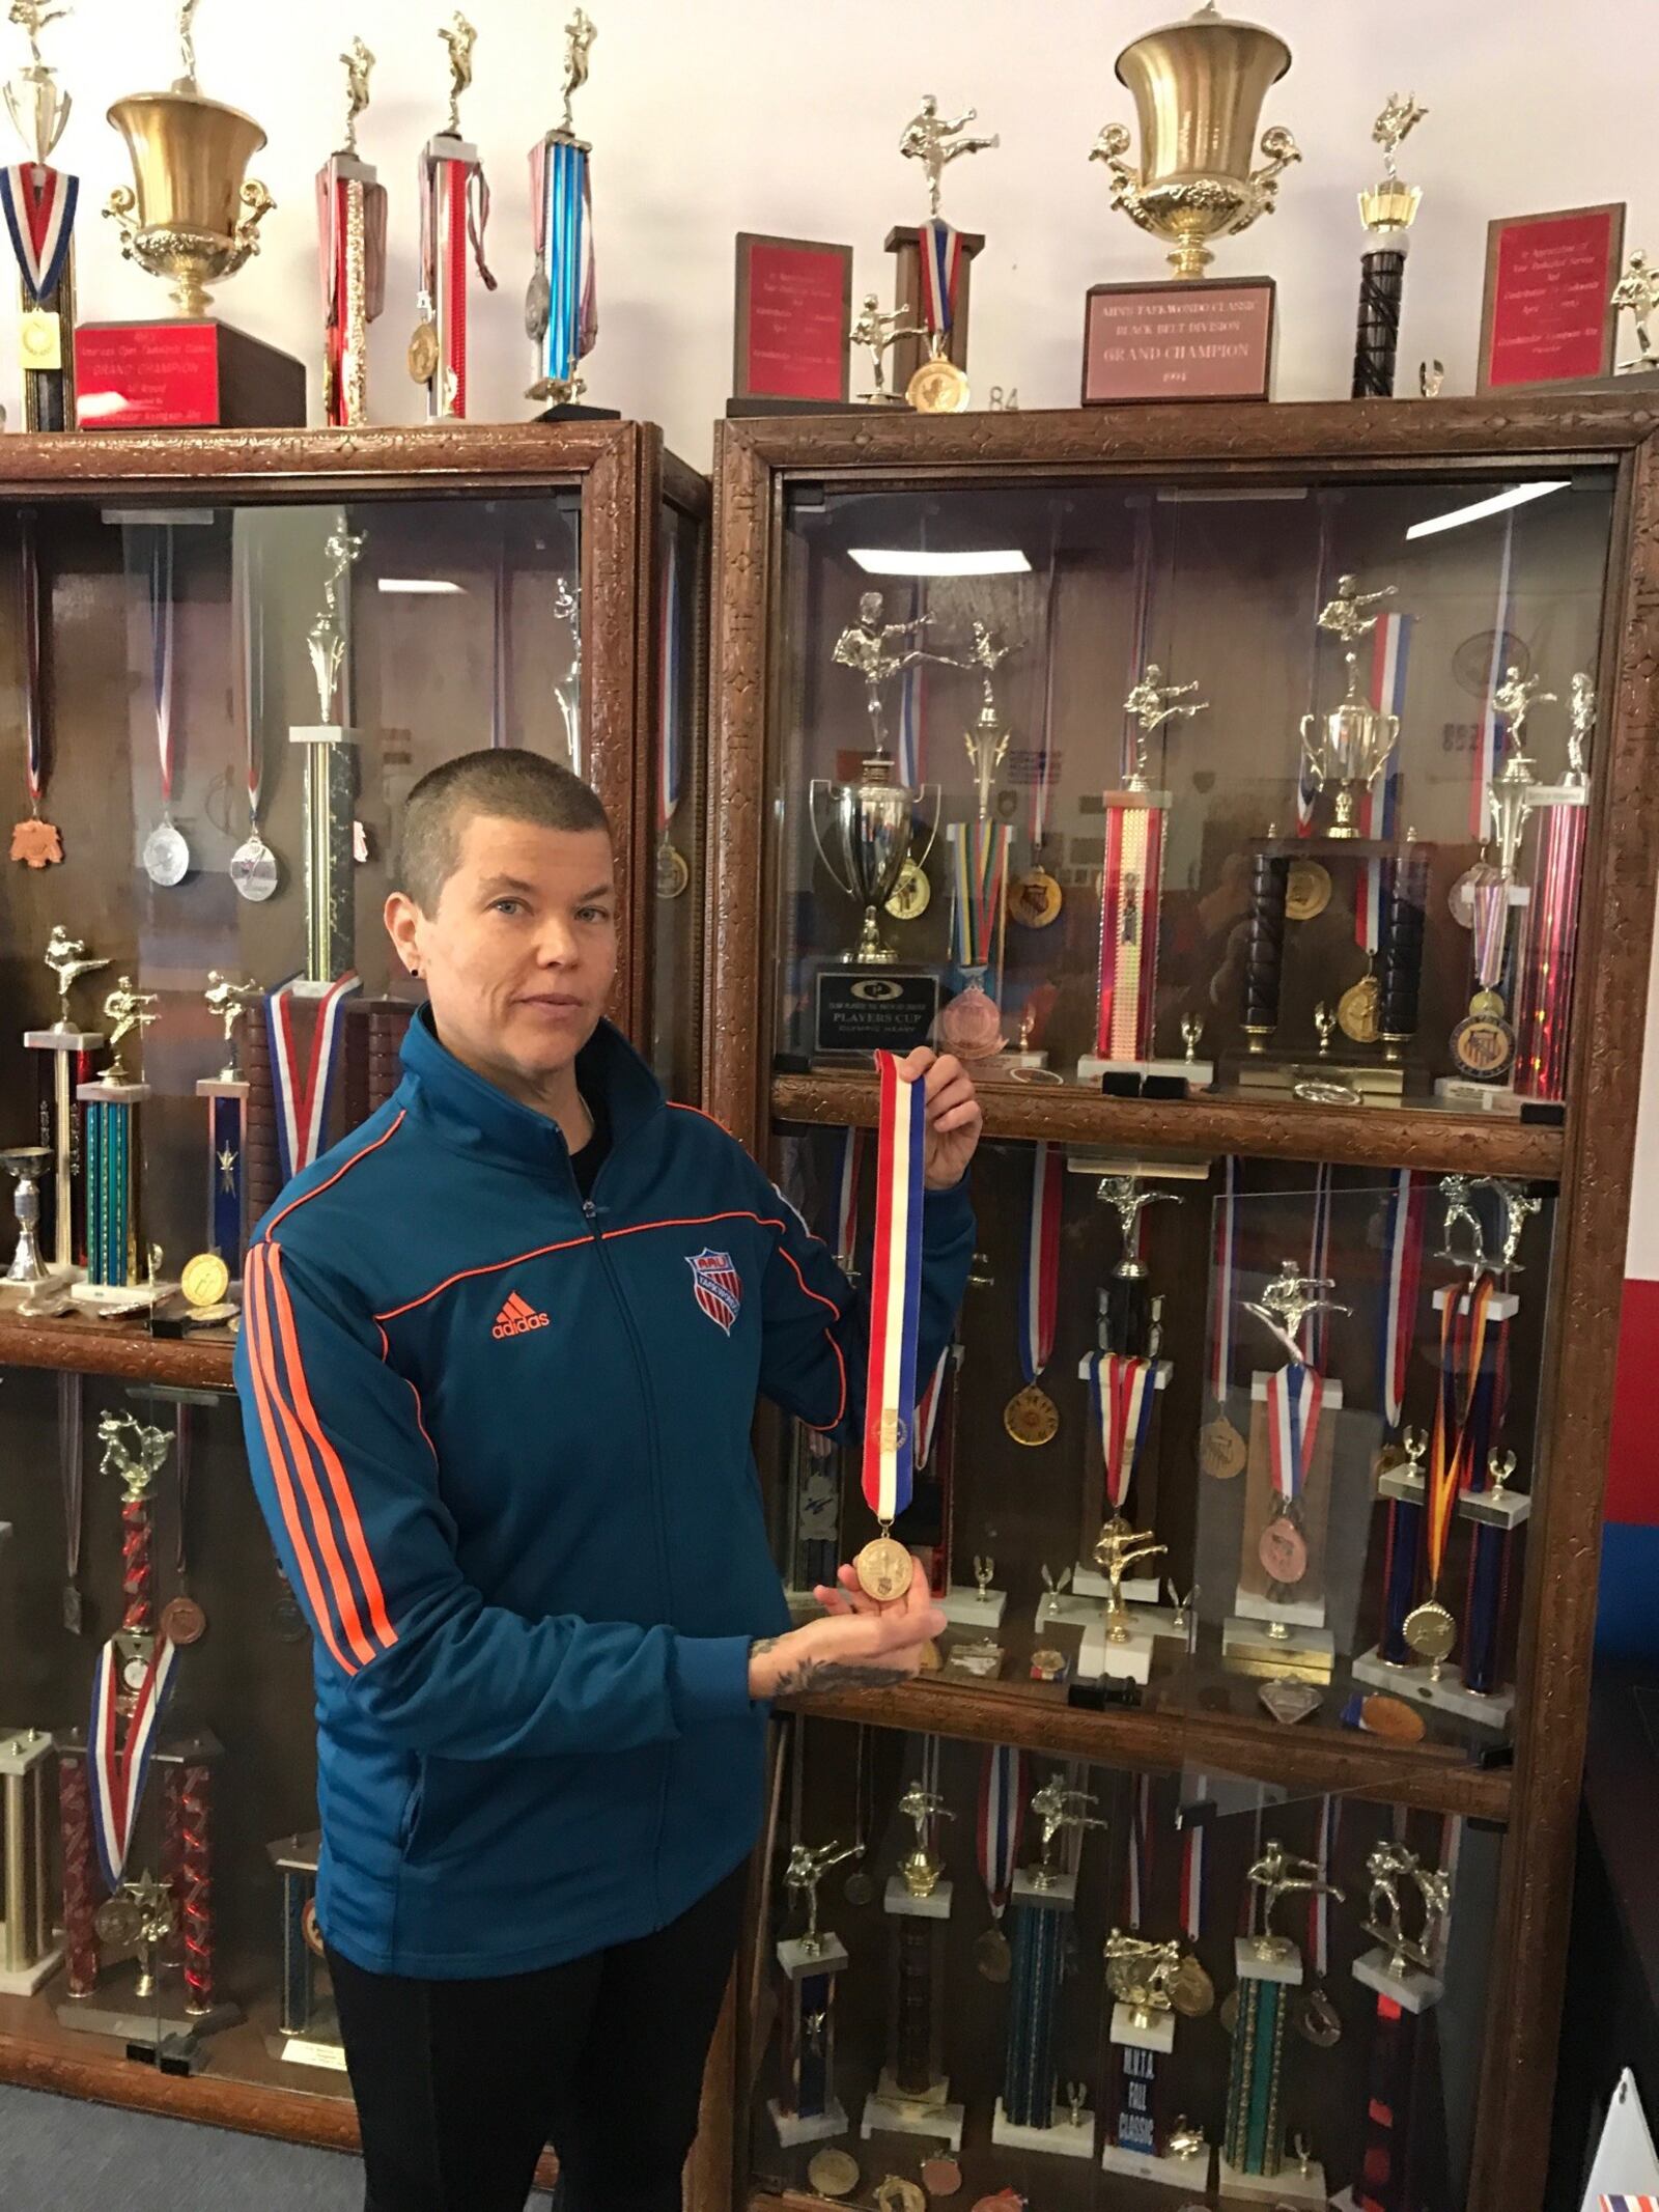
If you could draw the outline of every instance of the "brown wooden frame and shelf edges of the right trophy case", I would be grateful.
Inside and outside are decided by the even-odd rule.
[[[1610,465],[1613,546],[1601,613],[1604,719],[1593,761],[1577,1009],[1564,1128],[1484,1117],[1296,1102],[1108,1099],[1082,1091],[995,1091],[987,1130],[1135,1146],[1212,1146],[1254,1157],[1329,1159],[1555,1179],[1551,1340],[1540,1396],[1540,1480],[1526,1548],[1513,1772],[1360,1734],[1298,1739],[1270,1723],[1161,1712],[1040,1708],[995,1690],[920,1681],[898,1692],[814,1699],[885,1728],[1104,1761],[1237,1772],[1464,1812],[1506,1825],[1469,2212],[1540,2203],[1555,2042],[1566,1975],[1577,1790],[1595,1630],[1601,1482],[1613,1405],[1624,1237],[1648,993],[1659,841],[1659,409],[1641,396],[1524,392],[1500,400],[1157,405],[1055,414],[872,416],[856,425],[728,422],[717,431],[710,688],[710,803],[719,836],[708,885],[706,1106],[763,1146],[774,1119],[876,1121],[874,1077],[772,1073],[768,933],[776,854],[763,794],[779,743],[776,608],[785,493],[830,489],[1157,478],[1433,478],[1471,467]],[[1564,1387],[1571,1378],[1571,1387]],[[763,1931],[759,1931],[759,1940]],[[706,2099],[695,2159],[697,2212],[770,2203],[748,2194],[743,2130],[750,2053],[728,2008],[723,2062],[737,2097]],[[737,2046],[737,2048],[734,2048]],[[737,2104],[737,2139],[732,2137]],[[723,2112],[721,2112],[723,2106]],[[721,2126],[723,2119],[723,2126]]]

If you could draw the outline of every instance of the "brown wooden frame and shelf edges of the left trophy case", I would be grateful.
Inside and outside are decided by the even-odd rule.
[[[582,500],[582,714],[588,774],[617,830],[624,951],[611,1002],[630,1035],[648,1033],[653,907],[653,732],[659,701],[659,515],[710,511],[703,476],[639,422],[447,425],[349,431],[102,431],[0,442],[0,507],[46,513],[64,502],[142,507],[312,500],[489,498],[577,491]],[[706,655],[708,533],[697,588],[692,697]],[[701,836],[703,825],[697,825]],[[695,894],[701,896],[701,883]],[[701,995],[701,993],[699,993]],[[699,1022],[701,1006],[688,1009]],[[230,1352],[148,1336],[142,1327],[20,1321],[0,1314],[0,1369],[44,1367],[142,1383],[230,1389]],[[33,2002],[33,2000],[31,2000]],[[272,2088],[206,2070],[173,2075],[62,2031],[0,2028],[0,2081],[349,2150],[349,2095]],[[544,2161],[544,2181],[553,2161]]]

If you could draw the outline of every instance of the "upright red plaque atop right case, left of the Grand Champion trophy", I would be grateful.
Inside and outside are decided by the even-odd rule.
[[[737,234],[734,398],[847,400],[852,246]]]

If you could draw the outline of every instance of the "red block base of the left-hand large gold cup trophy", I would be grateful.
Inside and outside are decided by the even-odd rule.
[[[305,363],[212,319],[82,323],[75,429],[305,429]]]

